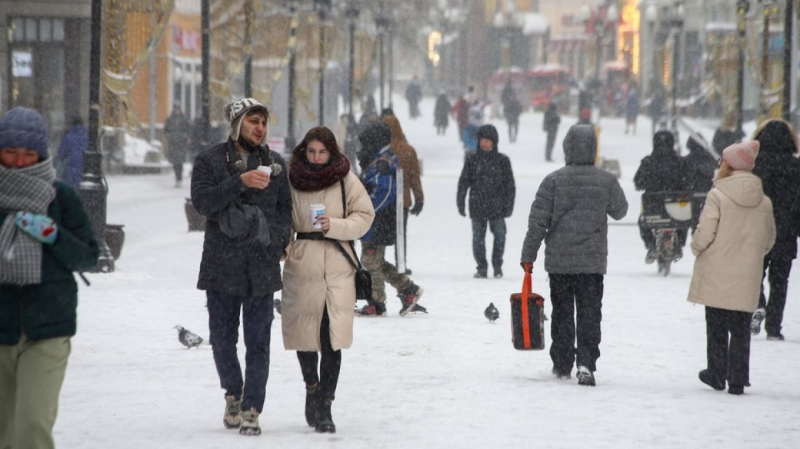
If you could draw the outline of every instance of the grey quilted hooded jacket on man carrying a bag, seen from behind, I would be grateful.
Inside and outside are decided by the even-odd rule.
[[[522,262],[533,263],[542,240],[548,273],[605,274],[608,218],[628,212],[614,175],[594,166],[597,138],[591,125],[574,125],[564,138],[567,165],[539,185],[528,217]]]

